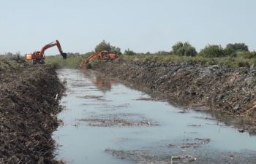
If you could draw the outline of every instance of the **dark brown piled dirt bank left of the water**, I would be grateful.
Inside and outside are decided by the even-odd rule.
[[[0,163],[62,163],[51,138],[64,93],[55,70],[1,60],[0,90]]]

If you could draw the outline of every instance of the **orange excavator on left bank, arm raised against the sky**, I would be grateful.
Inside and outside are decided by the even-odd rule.
[[[41,51],[35,51],[33,52],[33,54],[26,55],[26,59],[32,60],[34,64],[37,64],[37,63],[45,64],[45,50],[53,46],[57,46],[62,57],[64,59],[67,59],[67,53],[62,52],[61,44],[59,44],[58,40],[56,40],[56,42],[51,42],[49,44],[46,44],[44,47],[42,47]]]

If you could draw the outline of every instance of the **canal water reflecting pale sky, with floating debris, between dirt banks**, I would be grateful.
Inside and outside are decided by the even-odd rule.
[[[53,138],[70,163],[254,163],[256,136],[178,109],[96,71],[61,69],[67,96]],[[241,133],[244,132],[244,133]]]

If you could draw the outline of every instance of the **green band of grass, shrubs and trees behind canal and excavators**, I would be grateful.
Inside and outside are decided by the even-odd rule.
[[[61,55],[56,56],[46,56],[46,64],[52,65],[56,69],[75,69],[80,66],[90,55],[94,52],[99,52],[102,50],[108,50],[109,52],[118,52],[120,55],[117,60],[140,60],[143,62],[153,61],[153,62],[194,62],[200,64],[208,65],[219,65],[227,67],[249,67],[256,63],[256,52],[249,52],[248,46],[244,43],[227,44],[227,47],[223,48],[220,45],[208,44],[200,52],[195,50],[189,42],[177,42],[172,46],[172,51],[158,51],[155,53],[137,53],[132,50],[124,50],[124,54],[121,55],[121,49],[119,47],[114,47],[110,43],[103,40],[95,47],[95,51],[87,52],[86,54],[68,53],[67,60],[64,60]],[[94,63],[99,61],[98,58],[92,60],[90,64],[86,65],[87,69],[90,69]]]

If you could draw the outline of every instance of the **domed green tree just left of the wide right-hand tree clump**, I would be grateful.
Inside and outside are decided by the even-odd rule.
[[[178,56],[195,56],[197,55],[197,51],[195,47],[192,47],[189,42],[177,42],[173,45],[173,51],[169,54],[178,55]]]

